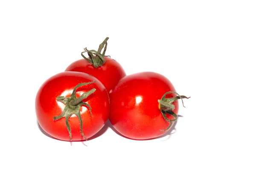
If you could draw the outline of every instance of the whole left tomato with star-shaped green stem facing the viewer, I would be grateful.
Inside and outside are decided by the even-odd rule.
[[[61,72],[41,85],[35,111],[41,128],[55,139],[87,140],[107,122],[109,96],[104,85],[89,74]]]

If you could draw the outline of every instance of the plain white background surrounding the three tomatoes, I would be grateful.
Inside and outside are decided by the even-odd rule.
[[[1,1],[0,169],[255,169],[255,9],[254,0]],[[72,145],[41,132],[38,88],[105,37],[127,74],[158,72],[191,96],[176,130],[136,141],[108,122]]]

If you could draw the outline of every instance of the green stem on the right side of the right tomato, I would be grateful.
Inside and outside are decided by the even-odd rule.
[[[168,129],[172,126],[173,122],[175,122],[175,121],[177,120],[177,114],[172,111],[172,110],[175,109],[175,105],[173,105],[172,103],[173,103],[175,100],[177,100],[177,99],[181,99],[182,105],[183,105],[183,107],[185,107],[185,106],[184,106],[184,103],[183,103],[183,99],[185,99],[185,98],[186,98],[186,99],[189,99],[189,98],[190,98],[190,97],[186,97],[186,96],[180,96],[179,94],[177,94],[177,96],[172,97],[172,98],[166,98],[166,95],[167,95],[167,94],[170,94],[170,93],[177,94],[177,93],[174,92],[174,91],[168,91],[168,92],[166,92],[165,94],[163,94],[163,96],[162,96],[161,99],[158,100],[158,103],[160,104],[160,111],[161,111],[161,113],[162,113],[162,115],[163,115],[163,118],[164,118],[167,122],[170,123],[170,125],[169,125],[165,130],[161,130],[161,131],[166,131],[166,130],[168,130]],[[168,114],[174,116],[175,119],[168,119],[168,118],[166,117],[166,113],[168,113]]]

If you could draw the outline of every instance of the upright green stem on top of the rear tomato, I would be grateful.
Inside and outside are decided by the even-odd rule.
[[[104,59],[105,52],[107,50],[107,41],[108,37],[105,38],[105,40],[99,45],[98,51],[96,50],[87,50],[87,48],[84,48],[84,51],[81,52],[81,56],[86,59],[88,62],[92,63],[95,68],[98,68],[99,66],[103,65],[106,61]],[[102,49],[103,53],[101,54]],[[85,57],[83,53],[87,53],[89,58]]]

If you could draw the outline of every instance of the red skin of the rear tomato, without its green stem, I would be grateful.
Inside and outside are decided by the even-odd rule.
[[[98,68],[93,67],[93,65],[85,59],[79,59],[71,63],[65,71],[78,71],[90,74],[105,86],[109,92],[122,77],[126,76],[126,73],[122,66],[111,59],[110,57],[104,57],[105,63]]]

